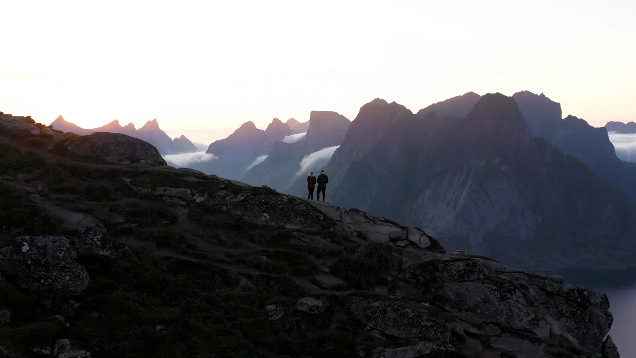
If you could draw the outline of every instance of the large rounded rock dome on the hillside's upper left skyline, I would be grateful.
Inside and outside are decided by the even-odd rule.
[[[55,146],[78,157],[101,159],[116,164],[166,165],[155,147],[125,134],[97,132],[62,140]]]

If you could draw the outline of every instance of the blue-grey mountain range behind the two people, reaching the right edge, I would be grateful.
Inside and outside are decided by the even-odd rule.
[[[312,112],[303,140],[261,140],[249,170],[218,174],[305,196],[305,171],[326,168],[331,203],[524,268],[636,262],[636,164],[616,157],[605,128],[562,119],[544,94],[468,92],[417,114],[375,99],[337,135],[317,135],[314,124],[337,117]],[[314,130],[321,141],[308,147]]]

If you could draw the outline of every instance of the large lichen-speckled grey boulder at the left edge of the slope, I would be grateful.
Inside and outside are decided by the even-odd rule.
[[[3,249],[0,269],[17,285],[42,296],[76,296],[88,287],[88,272],[62,236],[22,236]]]

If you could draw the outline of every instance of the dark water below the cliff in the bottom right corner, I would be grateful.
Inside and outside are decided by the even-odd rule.
[[[636,268],[559,271],[565,282],[604,292],[614,324],[609,331],[621,358],[636,358]]]

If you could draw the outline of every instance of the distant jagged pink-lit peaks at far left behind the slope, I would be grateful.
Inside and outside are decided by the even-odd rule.
[[[128,136],[138,138],[155,146],[162,155],[181,154],[197,152],[197,147],[186,138],[183,134],[179,138],[170,139],[159,127],[156,119],[149,120],[143,127],[136,129],[135,125],[129,123],[121,126],[118,120],[113,120],[109,124],[102,127],[84,129],[76,124],[67,122],[61,115],[51,123],[53,129],[63,132],[73,132],[75,134],[88,135],[95,132],[111,132],[127,134]]]

